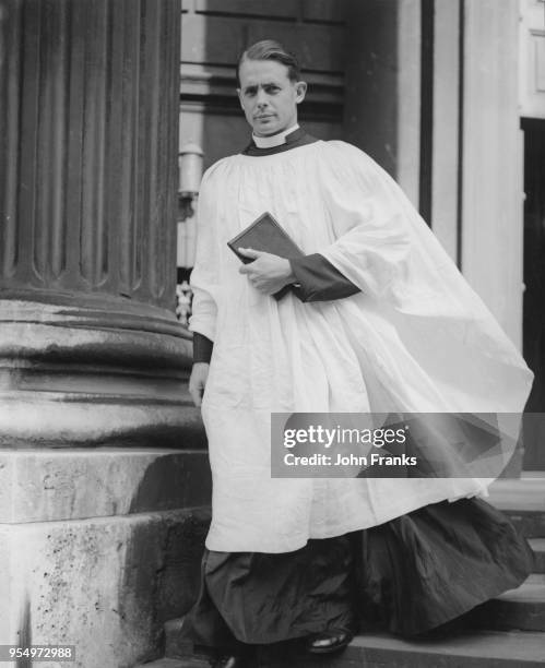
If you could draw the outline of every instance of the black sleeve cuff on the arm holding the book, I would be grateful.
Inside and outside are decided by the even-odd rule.
[[[320,253],[289,260],[295,274],[294,294],[301,301],[343,299],[362,290]]]

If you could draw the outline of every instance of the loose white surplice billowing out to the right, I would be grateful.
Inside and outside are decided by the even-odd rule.
[[[362,293],[280,301],[226,243],[269,211]],[[235,155],[202,181],[190,330],[214,342],[202,416],[213,474],[206,547],[287,552],[428,503],[453,479],[271,478],[271,413],[520,413],[532,373],[396,183],[344,142]]]

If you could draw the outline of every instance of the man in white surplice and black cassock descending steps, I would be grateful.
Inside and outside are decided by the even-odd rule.
[[[295,57],[260,41],[238,76],[252,142],[203,178],[190,320],[213,474],[190,622],[229,667],[289,639],[343,648],[362,607],[420,633],[529,569],[512,527],[466,499],[475,478],[272,478],[271,413],[520,411],[532,379],[395,183],[298,127]],[[264,212],[305,257],[240,264],[227,241]]]

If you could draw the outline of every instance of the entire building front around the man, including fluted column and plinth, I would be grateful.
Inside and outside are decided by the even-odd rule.
[[[251,41],[301,55],[303,122],[398,179],[524,344],[543,410],[543,10],[0,0],[0,644],[128,668],[194,598],[211,488],[175,317],[177,153],[247,143]]]

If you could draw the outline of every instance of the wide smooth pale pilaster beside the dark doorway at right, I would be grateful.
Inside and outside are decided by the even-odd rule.
[[[461,265],[514,344],[522,341],[523,163],[519,2],[464,3]]]

